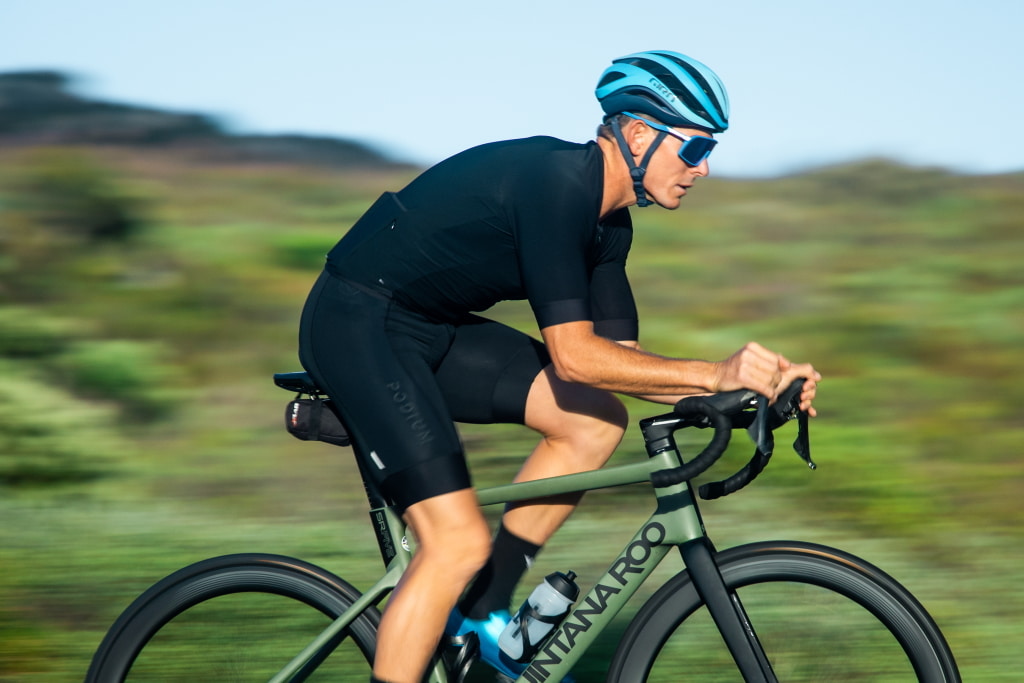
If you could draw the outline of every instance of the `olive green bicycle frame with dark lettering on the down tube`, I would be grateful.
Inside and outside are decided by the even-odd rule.
[[[641,463],[481,488],[477,492],[477,497],[480,504],[486,506],[650,483],[651,473],[672,469],[679,464],[679,451],[672,447]],[[561,681],[665,556],[673,548],[706,537],[703,522],[688,482],[655,488],[654,495],[657,499],[654,513],[640,526],[604,575],[575,603],[569,615],[519,677],[519,681]],[[384,575],[270,679],[271,683],[291,680],[322,648],[332,647],[337,636],[364,610],[378,604],[398,584],[412,559],[406,525],[392,508],[372,510],[371,518],[387,563]],[[439,657],[429,672],[428,680],[431,683],[447,682],[447,673]]]

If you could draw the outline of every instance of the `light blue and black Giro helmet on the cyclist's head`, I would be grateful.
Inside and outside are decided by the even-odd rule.
[[[729,127],[729,96],[721,79],[679,52],[620,57],[604,70],[595,94],[605,115],[646,114],[669,126],[709,133]]]

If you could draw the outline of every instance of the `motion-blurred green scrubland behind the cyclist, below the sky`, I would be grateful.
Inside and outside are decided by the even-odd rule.
[[[0,153],[0,681],[79,678],[135,595],[205,556],[280,552],[372,580],[348,452],[289,437],[269,378],[298,368],[323,254],[411,174]],[[819,469],[780,447],[757,486],[707,506],[719,545],[792,537],[861,554],[930,608],[966,680],[1016,680],[1024,175],[865,161],[709,179],[677,212],[634,216],[645,347],[722,358],[757,340],[825,376]],[[531,329],[521,304],[496,314]],[[480,483],[511,477],[532,441],[463,433]],[[636,438],[616,462],[642,457]],[[729,464],[749,455],[732,451]],[[536,578],[595,578],[643,495],[591,496]]]

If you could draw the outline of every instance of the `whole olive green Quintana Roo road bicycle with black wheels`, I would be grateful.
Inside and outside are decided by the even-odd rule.
[[[309,396],[303,400],[329,400],[305,373],[274,379]],[[581,578],[589,592],[518,681],[562,681],[608,633],[602,644],[618,639],[607,671],[612,683],[961,680],[925,607],[872,564],[794,541],[719,552],[708,537],[697,496],[720,498],[753,481],[774,451],[773,429],[797,419],[794,445],[813,468],[799,394],[797,383],[772,405],[749,391],[687,397],[671,413],[641,421],[648,456],[642,462],[478,490],[484,506],[627,484],[646,484],[654,497],[653,513],[607,571],[589,584]],[[713,436],[684,460],[675,432],[687,427],[710,428]],[[733,429],[752,436],[754,457],[734,475],[695,486],[692,479],[718,460]],[[153,586],[118,617],[87,683],[369,680],[379,607],[414,549],[395,510],[364,480],[385,566],[371,588],[359,591],[326,569],[280,555],[200,561]],[[646,600],[625,632],[609,630],[674,550],[685,568]],[[474,645],[472,638],[442,643],[425,680],[462,683],[467,673],[476,676],[486,665],[474,664]]]

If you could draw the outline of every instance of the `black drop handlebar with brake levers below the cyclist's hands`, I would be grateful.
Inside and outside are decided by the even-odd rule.
[[[714,429],[711,441],[695,458],[679,467],[652,473],[651,481],[654,486],[671,486],[701,474],[725,453],[732,430],[743,428],[757,444],[750,462],[732,476],[702,484],[698,489],[700,498],[709,501],[733,494],[761,474],[774,452],[773,430],[795,418],[799,422],[799,433],[793,444],[794,449],[808,467],[815,469],[816,465],[810,457],[807,413],[800,410],[803,386],[804,380],[798,379],[770,405],[765,396],[745,389],[708,396],[687,396],[676,403],[673,413],[641,421],[647,452],[651,456],[675,449],[673,434],[678,429]]]

